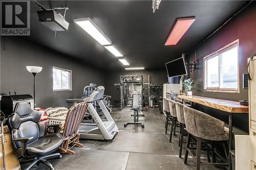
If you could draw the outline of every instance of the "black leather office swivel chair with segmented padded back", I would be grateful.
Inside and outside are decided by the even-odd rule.
[[[39,122],[40,116],[40,112],[31,110],[29,103],[20,102],[16,104],[14,113],[9,118],[14,148],[22,157],[20,163],[32,162],[26,170],[39,163],[54,169],[46,158],[61,158],[60,153],[54,152],[59,148],[63,137],[59,133],[45,135],[46,125]],[[56,125],[54,128],[56,129]]]

